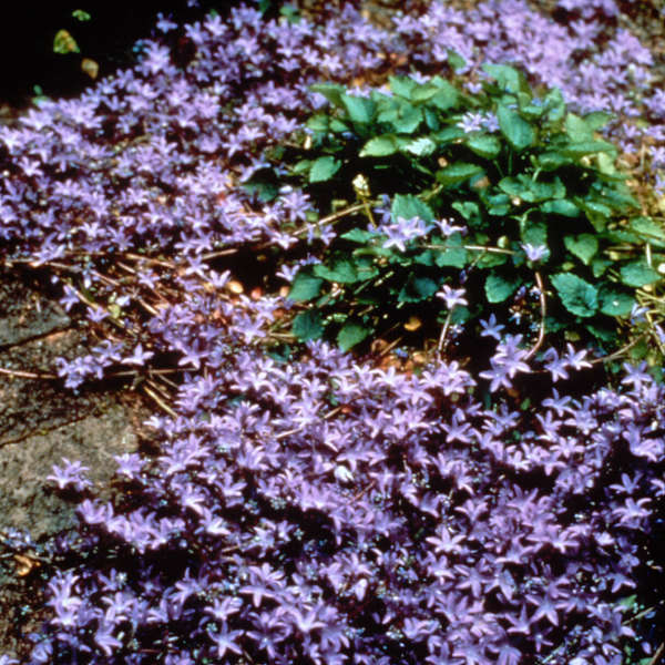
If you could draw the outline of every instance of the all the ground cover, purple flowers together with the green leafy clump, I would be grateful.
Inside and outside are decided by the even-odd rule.
[[[35,376],[126,379],[156,408],[112,500],[65,460],[45,481],[76,528],[7,536],[50,618],[0,662],[655,664],[665,106],[616,12],[162,17],[134,69],[0,130],[3,260],[91,340]],[[458,244],[432,266],[426,241]],[[349,328],[360,269],[387,296]]]

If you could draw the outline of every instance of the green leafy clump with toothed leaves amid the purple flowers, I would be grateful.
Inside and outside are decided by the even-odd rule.
[[[661,279],[665,254],[645,248],[662,252],[665,233],[636,214],[617,149],[598,137],[611,116],[567,111],[557,89],[538,95],[512,66],[483,69],[478,94],[440,76],[392,76],[362,95],[313,86],[329,105],[280,158],[338,232],[294,280],[291,299],[311,305],[298,338],[348,349],[432,332],[428,321],[477,334],[491,311],[541,341],[616,348],[636,289]]]

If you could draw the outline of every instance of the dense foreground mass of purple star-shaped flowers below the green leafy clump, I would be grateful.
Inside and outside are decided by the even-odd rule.
[[[522,411],[482,407],[457,364],[407,376],[324,344],[287,364],[237,332],[150,420],[160,454],[117,460],[117,501],[82,494],[94,564],[51,581],[31,663],[621,662],[617,601],[665,501],[643,368]]]

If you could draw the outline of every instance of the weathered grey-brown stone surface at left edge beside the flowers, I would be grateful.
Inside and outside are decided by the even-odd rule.
[[[48,562],[8,546],[4,534],[18,529],[39,543],[75,524],[75,505],[45,480],[53,464],[80,460],[93,491],[108,494],[113,456],[136,450],[147,417],[122,387],[73,392],[58,379],[23,376],[52,376],[57,357],[86,348],[85,334],[38,285],[0,273],[0,655],[25,655],[25,635],[43,621],[48,576]]]

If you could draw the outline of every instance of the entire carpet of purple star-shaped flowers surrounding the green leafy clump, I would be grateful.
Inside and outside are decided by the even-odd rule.
[[[80,497],[58,549],[80,556],[49,582],[30,665],[621,663],[633,630],[620,601],[663,575],[649,557],[665,389],[644,368],[521,408],[518,377],[566,379],[584,354],[531,358],[490,317],[479,376],[444,359],[379,369],[320,342],[279,346],[293,303],[237,280],[272,285],[254,257],[267,273],[298,238],[336,233],[313,224],[306,192],[249,186],[319,103],[315,81],[411,65],[426,78],[454,48],[471,88],[481,62],[512,61],[581,110],[646,110],[663,141],[652,55],[606,28],[611,4],[586,28],[515,0],[432,2],[392,30],[350,4],[316,25],[249,7],[162,19],[134,69],[0,129],[3,259],[49,270],[98,337],[59,375],[71,388],[111,371],[180,379],[158,386],[176,393],[147,422],[158,453],[119,458],[112,499],[78,462],[53,470]],[[608,131],[627,147],[637,136],[618,121]],[[381,232],[406,244],[427,231],[411,218]]]

